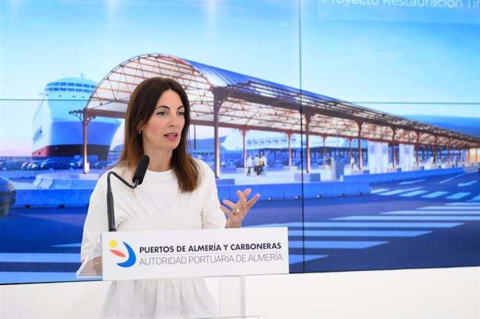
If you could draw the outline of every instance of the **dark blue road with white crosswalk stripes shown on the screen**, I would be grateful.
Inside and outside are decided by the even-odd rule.
[[[291,272],[480,265],[480,176],[376,184],[372,195],[259,202],[245,227],[289,227]],[[70,281],[86,208],[0,220],[0,283]]]

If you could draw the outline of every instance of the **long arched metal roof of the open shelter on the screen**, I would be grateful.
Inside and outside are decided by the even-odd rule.
[[[191,123],[214,126],[217,135],[218,126],[223,126],[414,145],[480,145],[480,138],[474,136],[163,54],[120,63],[99,83],[81,112],[86,117],[124,118],[131,92],[153,76],[183,85],[191,102]]]

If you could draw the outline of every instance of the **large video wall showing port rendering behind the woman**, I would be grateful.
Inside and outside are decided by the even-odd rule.
[[[89,118],[85,158],[82,111],[152,74],[189,93],[220,201],[262,195],[242,227],[288,227],[290,272],[480,265],[479,22],[471,0],[0,1],[0,284],[77,280],[124,130]]]

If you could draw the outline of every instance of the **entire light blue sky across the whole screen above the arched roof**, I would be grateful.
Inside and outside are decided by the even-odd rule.
[[[397,115],[480,117],[479,10],[372,13],[329,1],[325,14],[323,0],[302,0],[300,8],[296,0],[0,0],[0,145],[31,151],[38,102],[12,99],[39,99],[64,76],[100,81],[147,53]],[[360,103],[369,101],[407,104]]]

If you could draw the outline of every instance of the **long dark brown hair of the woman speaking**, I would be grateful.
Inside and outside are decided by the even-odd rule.
[[[157,101],[167,90],[176,92],[185,107],[185,124],[182,129],[182,136],[178,147],[173,150],[170,165],[173,168],[180,190],[191,192],[198,186],[199,171],[198,164],[193,161],[188,153],[189,145],[186,140],[190,126],[190,102],[182,85],[173,79],[159,77],[147,79],[138,84],[131,94],[127,115],[125,116],[125,144],[123,145],[119,165],[135,170],[138,161],[144,155],[142,135],[138,133],[138,128],[150,120],[157,106]]]

